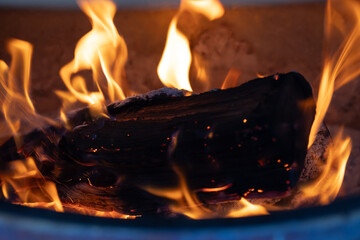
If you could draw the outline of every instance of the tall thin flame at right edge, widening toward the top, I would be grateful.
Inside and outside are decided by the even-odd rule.
[[[334,5],[334,6],[333,6]],[[340,10],[344,12],[340,12]],[[352,22],[344,22],[339,16],[346,14]],[[343,25],[341,25],[343,23]],[[334,52],[336,34],[343,34],[342,43]],[[328,0],[325,19],[324,66],[316,103],[316,116],[311,128],[310,147],[329,108],[333,92],[360,74],[360,3],[355,0]]]

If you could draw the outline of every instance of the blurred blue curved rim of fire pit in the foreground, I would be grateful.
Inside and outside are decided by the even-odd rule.
[[[120,220],[0,203],[0,240],[5,239],[360,239],[360,197],[267,216],[212,220]]]

